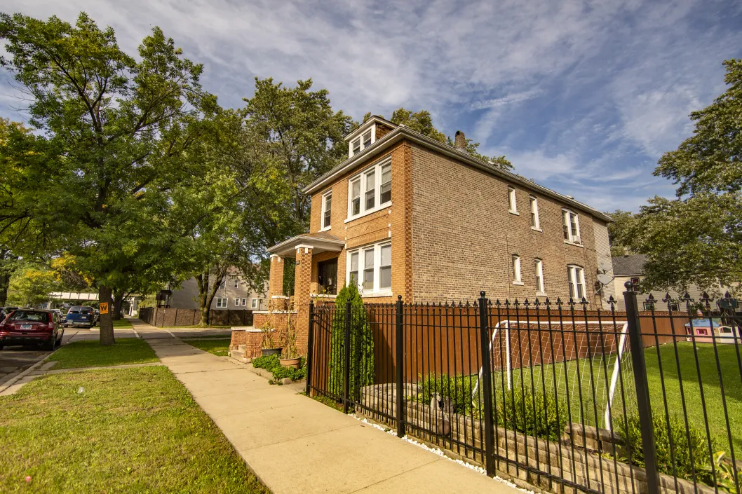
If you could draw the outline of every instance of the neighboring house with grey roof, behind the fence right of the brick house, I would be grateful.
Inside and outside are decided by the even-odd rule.
[[[614,287],[616,292],[619,294],[619,296],[616,297],[618,301],[616,304],[616,310],[626,310],[623,295],[621,294],[626,291],[624,285],[627,281],[631,281],[631,283],[634,284],[635,292],[640,292],[640,295],[637,297],[640,310],[651,310],[651,303],[646,301],[649,298],[650,293],[652,297],[654,297],[654,309],[657,311],[666,311],[668,309],[667,303],[663,302],[663,299],[668,293],[670,294],[670,298],[673,300],[672,310],[686,310],[685,303],[680,303],[680,299],[685,295],[685,292],[678,293],[674,290],[670,290],[669,292],[661,290],[651,290],[646,292],[643,290],[642,280],[644,280],[644,265],[646,264],[646,261],[646,254],[624,255],[613,258]],[[727,290],[727,287],[720,288],[721,293],[724,293]],[[698,301],[701,299],[703,290],[699,289],[697,286],[689,286],[688,294],[693,300]]]

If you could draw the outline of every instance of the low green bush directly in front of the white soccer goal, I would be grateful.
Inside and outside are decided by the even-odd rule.
[[[539,392],[523,395],[514,389],[498,393],[495,401],[499,426],[551,441],[559,441],[562,437],[568,420],[567,406],[553,393],[547,392],[546,397]]]

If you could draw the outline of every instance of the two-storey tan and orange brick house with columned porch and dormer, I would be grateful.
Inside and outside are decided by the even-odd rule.
[[[605,304],[612,284],[603,212],[379,116],[346,137],[348,159],[304,189],[309,233],[269,249],[269,306],[296,259],[294,307],[306,349],[312,297],[355,280],[368,302],[493,299]],[[255,326],[263,317],[256,315]]]

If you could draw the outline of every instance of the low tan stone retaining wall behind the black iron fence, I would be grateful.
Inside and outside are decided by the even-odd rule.
[[[417,390],[413,384],[406,384],[404,395],[416,395]],[[387,415],[396,414],[396,392],[395,384],[376,384],[366,386],[361,390],[361,406],[356,406],[358,415],[365,415],[375,421],[396,427],[395,421],[390,421],[383,415],[375,414],[364,409],[379,410]],[[421,394],[421,393],[420,393]],[[421,404],[416,401],[405,400],[405,420],[407,434],[421,438],[424,442],[447,450],[447,455],[453,458],[471,461],[481,466],[484,465],[482,452],[482,433],[485,429],[482,421],[467,415],[453,414],[444,415],[430,405]],[[495,467],[498,475],[508,478],[519,487],[526,489],[545,490],[557,494],[578,494],[580,491],[574,487],[562,487],[554,481],[549,481],[544,475],[529,472],[523,467],[516,467],[513,463],[528,464],[529,467],[550,472],[551,475],[564,478],[566,481],[574,482],[590,489],[600,490],[605,494],[642,494],[647,492],[646,472],[643,468],[632,467],[621,461],[606,458],[605,453],[612,449],[611,433],[602,429],[588,430],[585,428],[587,438],[582,445],[582,429],[578,424],[569,425],[565,429],[562,441],[546,441],[542,438],[534,438],[520,432],[514,432],[504,427],[494,427],[494,445],[496,454],[508,458],[511,462],[495,459]],[[572,438],[579,438],[572,443]],[[617,438],[614,438],[614,440]],[[611,445],[608,446],[608,442]],[[468,445],[466,447],[465,445]],[[591,449],[594,447],[596,449]],[[603,456],[601,456],[603,455]],[[660,474],[660,493],[662,494],[694,494],[695,488],[692,482],[677,479],[669,475]],[[633,484],[633,485],[632,485]],[[705,484],[697,484],[698,494],[713,494],[715,490]]]

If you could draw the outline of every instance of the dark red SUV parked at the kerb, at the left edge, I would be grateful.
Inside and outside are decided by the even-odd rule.
[[[37,344],[53,350],[64,335],[65,326],[56,312],[19,309],[0,324],[0,350],[8,344]]]

